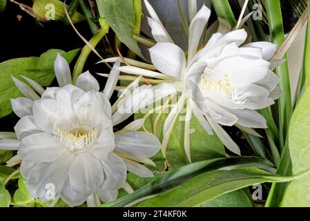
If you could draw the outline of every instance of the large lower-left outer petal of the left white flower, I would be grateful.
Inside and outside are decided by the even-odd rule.
[[[49,186],[55,187],[57,195],[68,177],[68,171],[74,159],[75,154],[66,151],[54,162],[43,162],[32,166],[25,177],[30,195],[43,198]]]

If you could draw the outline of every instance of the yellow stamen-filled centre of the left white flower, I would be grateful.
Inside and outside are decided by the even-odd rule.
[[[97,140],[98,128],[81,126],[65,131],[55,126],[54,135],[73,153],[83,153],[88,151]]]

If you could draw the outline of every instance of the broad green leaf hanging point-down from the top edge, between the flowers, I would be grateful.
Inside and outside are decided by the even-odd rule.
[[[136,55],[144,58],[137,41],[133,38],[135,26],[133,0],[97,0],[96,2],[100,17],[106,19],[119,40]]]

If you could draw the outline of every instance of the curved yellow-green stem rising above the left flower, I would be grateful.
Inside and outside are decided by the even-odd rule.
[[[95,48],[97,44],[99,43],[99,41],[106,35],[106,33],[108,33],[108,29],[109,29],[108,23],[106,23],[106,21],[102,21],[101,28],[92,37],[92,39],[90,39],[89,44],[93,46],[93,48]],[[84,46],[84,48],[81,50],[81,55],[79,55],[79,58],[77,59],[77,63],[75,64],[75,68],[73,69],[73,74],[72,74],[73,84],[75,84],[75,82],[77,81],[77,77],[79,77],[79,75],[81,75],[81,73],[83,72],[85,62],[91,51],[92,50],[87,45]]]

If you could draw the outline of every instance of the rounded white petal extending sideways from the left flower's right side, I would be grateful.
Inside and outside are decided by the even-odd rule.
[[[120,133],[115,135],[115,149],[120,153],[138,158],[153,157],[161,148],[155,135],[142,131]]]

